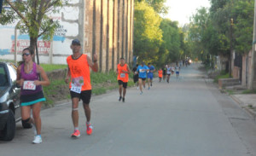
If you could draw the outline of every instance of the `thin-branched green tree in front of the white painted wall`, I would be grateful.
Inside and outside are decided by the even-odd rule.
[[[53,37],[58,21],[51,20],[50,13],[56,13],[67,3],[67,0],[6,0],[11,9],[3,9],[0,14],[0,24],[5,25],[20,20],[21,33],[28,33],[30,37],[30,49],[34,50],[38,38],[50,39]]]

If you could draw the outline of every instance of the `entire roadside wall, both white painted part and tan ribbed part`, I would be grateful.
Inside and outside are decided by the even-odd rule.
[[[90,57],[96,53],[100,71],[116,69],[120,57],[131,63],[133,50],[133,0],[73,0],[58,14],[59,20],[53,41],[38,39],[40,63],[66,64],[72,55],[71,41],[78,38],[82,51]],[[15,26],[0,26],[0,59],[15,59]],[[21,50],[29,46],[29,36],[18,32],[17,61]]]

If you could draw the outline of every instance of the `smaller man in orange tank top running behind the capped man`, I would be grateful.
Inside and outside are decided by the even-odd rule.
[[[126,93],[126,88],[129,80],[129,73],[130,73],[130,68],[129,66],[125,63],[125,58],[120,58],[119,59],[119,64],[116,69],[116,73],[118,74],[118,82],[119,82],[119,101],[123,99],[123,102],[125,102],[125,93]],[[122,97],[123,93],[123,97]]]

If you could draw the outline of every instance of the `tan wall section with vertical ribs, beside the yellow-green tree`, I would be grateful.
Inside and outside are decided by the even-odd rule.
[[[90,19],[90,26],[84,23],[84,36],[91,42],[84,49],[91,49],[90,55],[98,55],[102,72],[115,70],[120,57],[125,57],[127,63],[132,61],[133,5],[133,0],[87,0],[85,3],[85,19]]]

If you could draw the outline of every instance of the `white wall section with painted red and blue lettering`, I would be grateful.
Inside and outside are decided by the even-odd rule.
[[[80,36],[83,37],[83,31],[79,31],[79,28],[83,27],[84,1],[73,0],[70,3],[72,6],[62,8],[60,13],[49,14],[53,20],[59,20],[60,27],[55,31],[53,41],[43,41],[42,38],[38,38],[40,63],[66,64],[67,56],[72,55],[70,49],[72,40]],[[0,25],[0,60],[15,60],[15,26],[17,22],[7,26]],[[79,38],[81,43],[83,43],[82,39]],[[20,34],[17,31],[17,61],[21,61],[21,51],[28,47],[29,43],[28,34]]]

